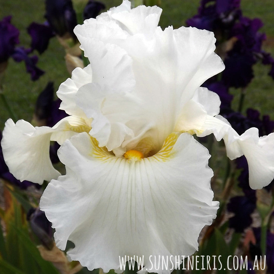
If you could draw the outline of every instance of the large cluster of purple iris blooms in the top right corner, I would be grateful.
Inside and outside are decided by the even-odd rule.
[[[269,75],[274,78],[274,59],[261,49],[266,39],[264,33],[259,33],[263,23],[258,18],[242,16],[240,0],[202,0],[198,14],[188,19],[187,24],[213,31],[217,50],[222,52],[224,48],[232,47],[228,52],[222,52],[225,70],[221,82],[225,86],[246,87],[254,76],[253,65],[259,60],[263,64],[271,64]],[[218,45],[224,45],[224,42],[226,47],[218,49]]]

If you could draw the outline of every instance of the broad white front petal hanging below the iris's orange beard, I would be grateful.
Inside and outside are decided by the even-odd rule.
[[[40,201],[57,246],[72,241],[72,260],[104,272],[119,269],[119,256],[144,255],[145,269],[150,255],[194,253],[219,203],[212,201],[207,149],[179,135],[143,159],[136,151],[136,158],[117,158],[85,133],[66,141],[58,153],[67,174],[52,180]]]

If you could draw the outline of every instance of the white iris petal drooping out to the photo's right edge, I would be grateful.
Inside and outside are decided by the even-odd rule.
[[[184,105],[175,130],[199,137],[213,133],[217,141],[223,139],[231,160],[242,155],[247,158],[250,187],[267,186],[274,177],[274,133],[259,138],[258,129],[250,128],[240,136],[225,118],[216,115],[220,106],[217,97],[206,88],[198,89]]]

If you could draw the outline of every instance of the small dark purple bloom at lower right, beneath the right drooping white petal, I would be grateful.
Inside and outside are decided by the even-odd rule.
[[[229,227],[235,232],[243,232],[252,223],[251,213],[256,208],[256,197],[236,196],[230,199],[227,210],[234,213],[229,218]]]

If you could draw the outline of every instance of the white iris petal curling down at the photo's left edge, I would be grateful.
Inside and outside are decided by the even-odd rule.
[[[42,184],[44,180],[57,178],[60,173],[53,167],[49,157],[50,141],[62,144],[67,138],[90,128],[80,118],[69,116],[53,128],[33,127],[19,120],[5,123],[1,147],[9,171],[20,181],[28,180]]]

